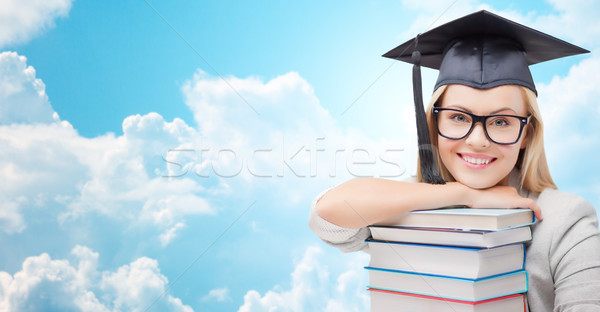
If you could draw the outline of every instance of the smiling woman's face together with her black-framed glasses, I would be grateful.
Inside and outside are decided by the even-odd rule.
[[[504,85],[477,90],[450,85],[440,88],[440,92],[440,108],[433,110],[439,112],[434,117],[439,138],[432,142],[439,149],[444,179],[473,188],[508,185],[508,174],[529,139],[525,126],[529,119],[523,117],[528,115],[528,110],[521,87]],[[482,123],[476,123],[471,117],[470,121],[457,125],[456,118],[470,117],[468,114],[472,113],[490,115]],[[497,126],[493,122],[501,124]],[[543,150],[541,152],[543,154]],[[486,174],[482,175],[480,170],[486,170]],[[554,184],[547,186],[555,187]]]

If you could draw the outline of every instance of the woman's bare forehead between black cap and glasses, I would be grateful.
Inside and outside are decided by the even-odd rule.
[[[464,85],[449,85],[442,96],[441,106],[464,109],[480,115],[504,111],[509,113],[513,111],[516,114],[527,112],[523,91],[515,85],[486,90]]]

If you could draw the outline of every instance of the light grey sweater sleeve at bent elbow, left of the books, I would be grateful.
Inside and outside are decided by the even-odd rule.
[[[329,191],[325,190],[312,202],[310,215],[308,218],[308,227],[325,243],[338,248],[343,252],[365,251],[368,252],[368,245],[365,242],[371,236],[369,228],[348,229],[333,224],[319,216],[316,211],[317,202]]]

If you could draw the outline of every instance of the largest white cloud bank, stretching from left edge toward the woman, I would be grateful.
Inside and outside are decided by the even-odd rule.
[[[183,87],[198,130],[149,113],[127,117],[122,136],[84,138],[67,121],[50,117],[56,114],[43,82],[26,59],[2,56],[7,66],[0,67],[0,77],[20,81],[3,94],[23,99],[2,102],[14,112],[0,125],[6,183],[0,189],[0,230],[6,233],[26,229],[28,211],[52,206],[63,224],[99,213],[134,226],[154,225],[166,246],[188,216],[215,213],[210,198],[234,191],[252,196],[255,187],[274,187],[293,205],[334,183],[332,177],[404,172],[396,145],[341,129],[297,73],[262,82],[223,81],[200,72]],[[20,109],[30,103],[41,103],[30,107],[38,112],[35,118]],[[268,183],[253,183],[257,178]],[[309,178],[316,183],[306,187]]]

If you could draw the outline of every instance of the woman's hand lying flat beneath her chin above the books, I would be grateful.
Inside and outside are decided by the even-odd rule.
[[[458,182],[457,182],[458,183]],[[521,197],[512,186],[493,186],[471,189],[467,192],[467,206],[471,208],[529,208],[542,220],[542,210],[531,198]]]

